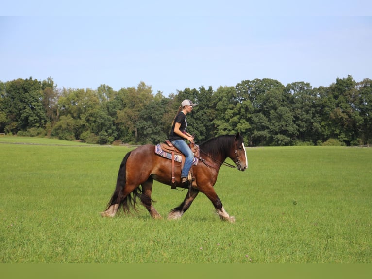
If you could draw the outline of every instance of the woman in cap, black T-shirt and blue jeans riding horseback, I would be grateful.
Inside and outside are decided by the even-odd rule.
[[[192,160],[194,154],[190,147],[187,145],[185,140],[189,140],[194,143],[194,136],[186,132],[187,122],[186,114],[192,112],[193,106],[197,104],[192,103],[190,100],[186,99],[182,101],[181,106],[178,109],[176,116],[172,122],[172,129],[170,130],[169,140],[173,145],[185,155],[185,164],[181,172],[181,182],[188,182],[188,172],[191,169]]]

